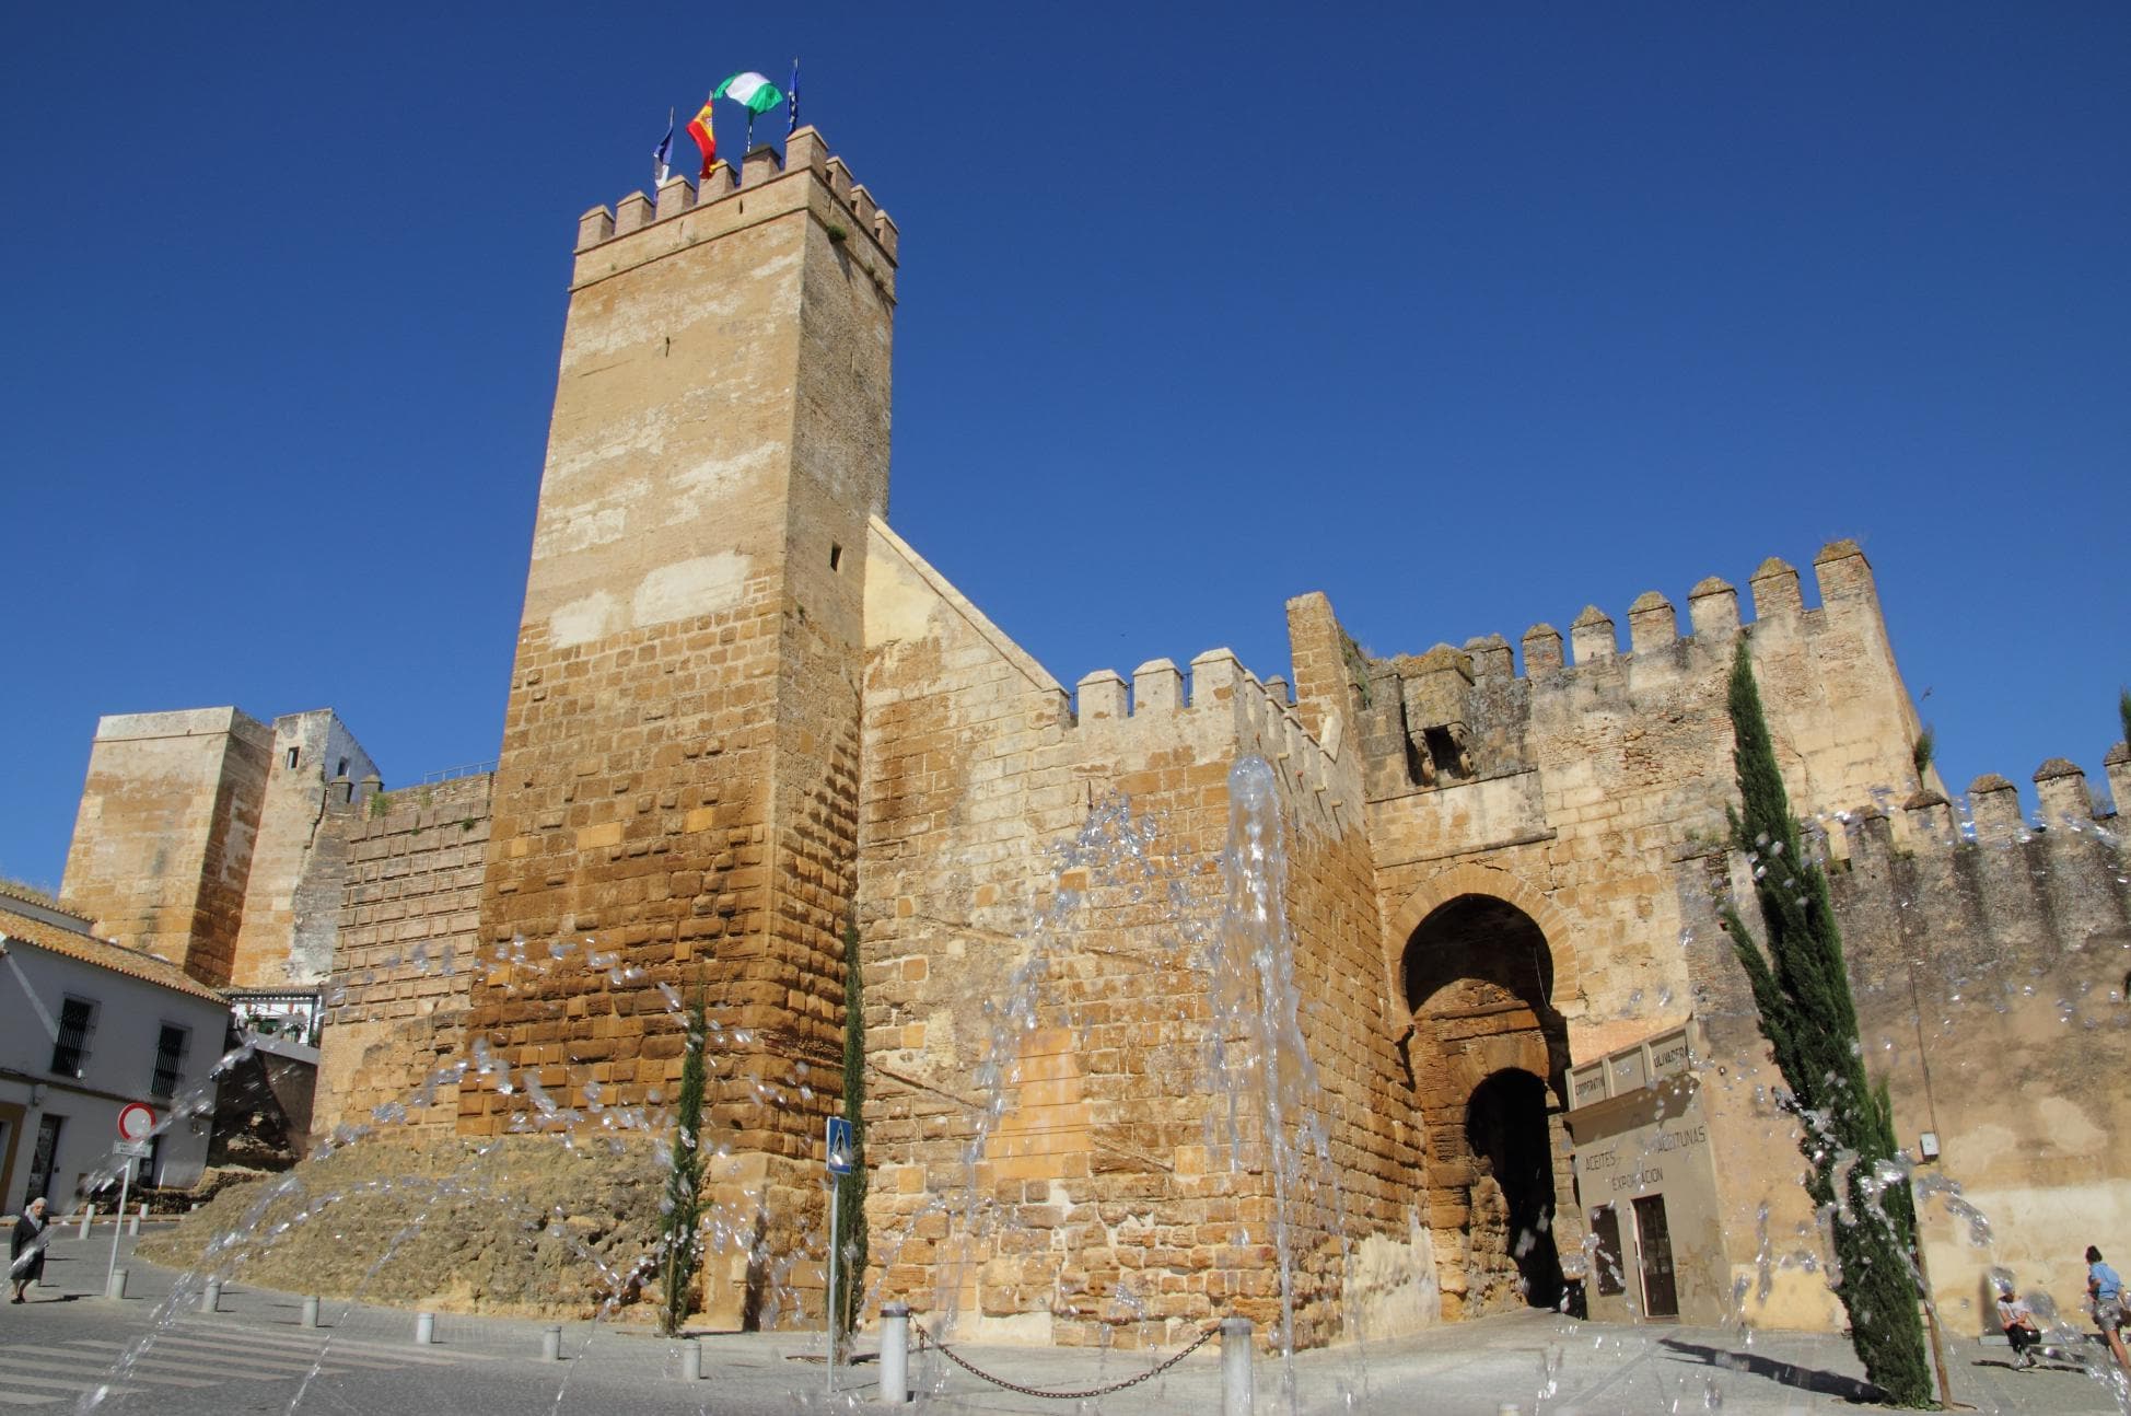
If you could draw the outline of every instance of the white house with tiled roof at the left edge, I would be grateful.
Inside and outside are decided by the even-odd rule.
[[[117,1173],[107,1166],[132,1103],[158,1122],[134,1184],[198,1184],[228,1026],[230,1004],[175,964],[0,891],[0,1209],[36,1196],[75,1209],[85,1177]],[[177,1115],[188,1098],[205,1109]]]

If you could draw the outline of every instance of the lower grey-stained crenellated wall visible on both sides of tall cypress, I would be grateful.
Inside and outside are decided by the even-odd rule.
[[[2114,766],[2114,753],[2112,753]],[[2084,778],[2044,763],[2037,791],[2069,804]],[[2073,789],[2078,798],[2073,795]],[[2131,1126],[2120,1079],[2131,1071],[2131,868],[2120,817],[2020,821],[2012,785],[1980,778],[1973,834],[1937,793],[1903,808],[1905,840],[1869,808],[1848,862],[1828,874],[1858,1004],[1867,1064],[1894,1098],[1897,1139],[1916,1154],[1935,1132],[1926,1186],[1952,1181],[1986,1218],[1986,1241],[1941,1201],[1926,1201],[1926,1265],[1958,1335],[1995,1331],[1984,1282],[2012,1269],[2067,1314],[2084,1294],[2080,1254],[2110,1248],[2131,1222],[2131,1181],[2116,1139]],[[1752,864],[1726,849],[1683,855],[1681,908],[1692,994],[1709,1039],[1707,1077],[1730,1098],[1733,1186],[1726,1243],[1735,1275],[1756,1277],[1756,1207],[1775,1205],[1777,1254],[1818,1252],[1796,1169],[1796,1126],[1762,1088],[1782,1085],[1760,1039],[1743,972],[1715,926],[1713,891],[1752,894]],[[1760,919],[1747,911],[1760,938]],[[1747,1181],[1743,1177],[1764,1175]],[[1777,1303],[1756,1320],[1805,1322],[1813,1282],[1777,1275]],[[1784,1288],[1790,1288],[1786,1305]],[[1833,1312],[1833,1309],[1831,1309]]]

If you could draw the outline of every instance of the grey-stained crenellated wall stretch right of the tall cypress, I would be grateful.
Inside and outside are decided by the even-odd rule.
[[[2052,800],[2084,778],[2044,763]],[[2012,806],[2010,787],[1997,793]],[[1901,1141],[1939,1135],[1933,1166],[1988,1216],[1990,1243],[1929,1207],[1929,1262],[1958,1331],[1984,1331],[1990,1265],[2061,1309],[2084,1297],[2088,1243],[2114,1256],[2131,1226],[2131,857],[2122,817],[2061,812],[2046,830],[1990,819],[1978,838],[1948,830],[1946,806],[1920,800],[1909,844],[1867,815],[1850,870],[1835,876],[1858,1026],[1875,1075],[1894,1094]]]

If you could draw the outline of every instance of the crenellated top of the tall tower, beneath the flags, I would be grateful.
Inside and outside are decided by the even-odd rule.
[[[852,179],[820,132],[799,128],[784,139],[782,156],[765,143],[748,151],[737,171],[729,162],[712,164],[701,186],[676,173],[656,192],[631,192],[612,209],[586,211],[578,218],[573,286],[799,209],[812,209],[837,245],[863,232],[865,247],[884,258],[876,273],[893,275],[895,220]]]

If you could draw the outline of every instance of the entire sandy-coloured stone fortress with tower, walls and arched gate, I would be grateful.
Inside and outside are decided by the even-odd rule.
[[[661,985],[701,989],[746,1039],[710,1096],[733,1145],[707,1196],[757,1256],[818,1252],[855,926],[872,1299],[950,1303],[965,1337],[1153,1346],[1279,1303],[1272,1190],[1210,1143],[1208,989],[1176,947],[1257,753],[1340,1177],[1294,1216],[1300,1341],[1575,1284],[1617,1316],[1833,1324],[1818,1275],[1769,1262],[1818,1239],[1711,904],[1750,870],[1724,832],[1743,640],[1824,823],[1899,1128],[1935,1130],[1941,1173],[2018,1235],[1975,1254],[1929,1228],[1941,1297],[1973,1305],[1988,1262],[2063,1267],[2071,1213],[2131,1220],[2116,819],[2069,763],[2039,825],[2003,778],[1973,821],[1918,778],[1858,546],[1813,559],[1811,606],[1775,559],[1750,616],[1715,578],[1686,627],[1643,595],[1626,648],[1588,608],[1566,646],[1536,625],[1374,657],[1306,593],[1291,682],[1210,648],[1068,689],[886,518],[897,262],[812,128],[588,211],[494,770],[384,793],[332,714],[107,719],[64,894],[211,983],[320,985],[320,1130],[379,1105],[409,1105],[405,1135],[522,1126],[526,1094],[482,1073],[424,1085],[475,1045],[565,1107],[654,1105],[682,1053]],[[2127,800],[2122,744],[2108,774]],[[1119,798],[1159,823],[1146,879],[1057,874]],[[985,1004],[1061,894],[1083,904],[987,1128]],[[618,966],[528,977],[520,940]],[[1990,1028],[2024,1085],[1969,1085],[1958,1056],[1926,1077],[1946,996],[2005,981]],[[2059,998],[2095,1028],[2059,1028]],[[2012,1092],[2054,1122],[2029,1135]],[[714,1322],[750,1320],[748,1273],[714,1258]],[[793,1282],[818,1312],[818,1273]]]

